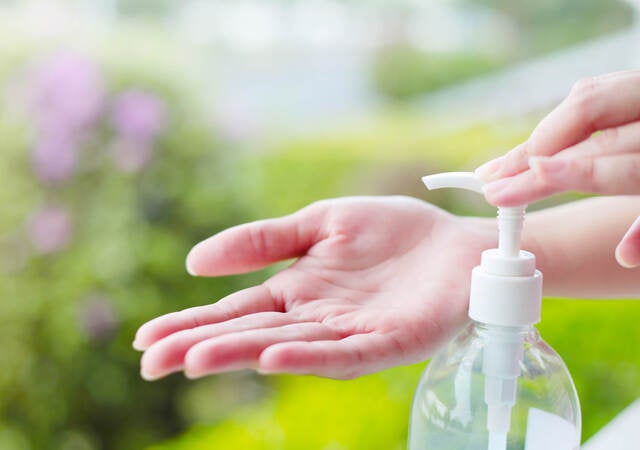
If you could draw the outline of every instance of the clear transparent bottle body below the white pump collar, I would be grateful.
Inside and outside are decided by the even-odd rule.
[[[506,444],[500,442],[502,436],[492,436],[490,443],[485,353],[495,339],[514,336],[521,340],[523,351],[510,427]],[[571,376],[535,327],[509,329],[472,322],[433,358],[420,380],[411,411],[409,449],[575,450],[580,428],[580,405]]]

